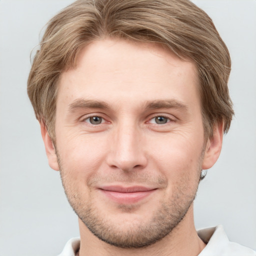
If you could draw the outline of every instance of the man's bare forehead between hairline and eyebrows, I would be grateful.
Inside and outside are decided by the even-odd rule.
[[[113,102],[198,98],[195,65],[159,44],[124,39],[93,41],[78,54],[76,67],[60,75],[58,101],[65,97]],[[139,95],[139,96],[138,96]],[[140,102],[140,103],[141,103]],[[142,102],[143,103],[143,102]]]

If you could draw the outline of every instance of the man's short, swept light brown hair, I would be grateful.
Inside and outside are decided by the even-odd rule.
[[[104,37],[157,42],[194,62],[205,137],[216,122],[227,132],[233,115],[227,81],[230,56],[211,18],[189,0],[77,0],[47,25],[27,82],[36,118],[54,140],[57,83],[77,53]]]

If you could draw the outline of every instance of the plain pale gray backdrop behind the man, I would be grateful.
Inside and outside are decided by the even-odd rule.
[[[46,21],[71,0],[0,0],[0,255],[56,255],[78,236],[59,174],[47,164],[26,95],[29,54]],[[256,248],[256,0],[194,0],[231,58],[235,118],[221,156],[199,186],[196,228],[223,224]]]

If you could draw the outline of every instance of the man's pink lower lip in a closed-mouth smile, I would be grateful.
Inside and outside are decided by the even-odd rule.
[[[118,203],[135,203],[143,198],[149,196],[156,189],[148,190],[148,191],[138,191],[138,192],[130,192],[130,193],[122,193],[116,191],[109,191],[100,189],[107,197],[118,202]]]

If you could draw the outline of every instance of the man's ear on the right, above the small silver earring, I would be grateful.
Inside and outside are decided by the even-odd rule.
[[[223,126],[223,121],[220,123],[216,123],[213,127],[212,137],[208,138],[207,140],[202,161],[202,169],[204,170],[212,167],[219,157],[222,147]]]

